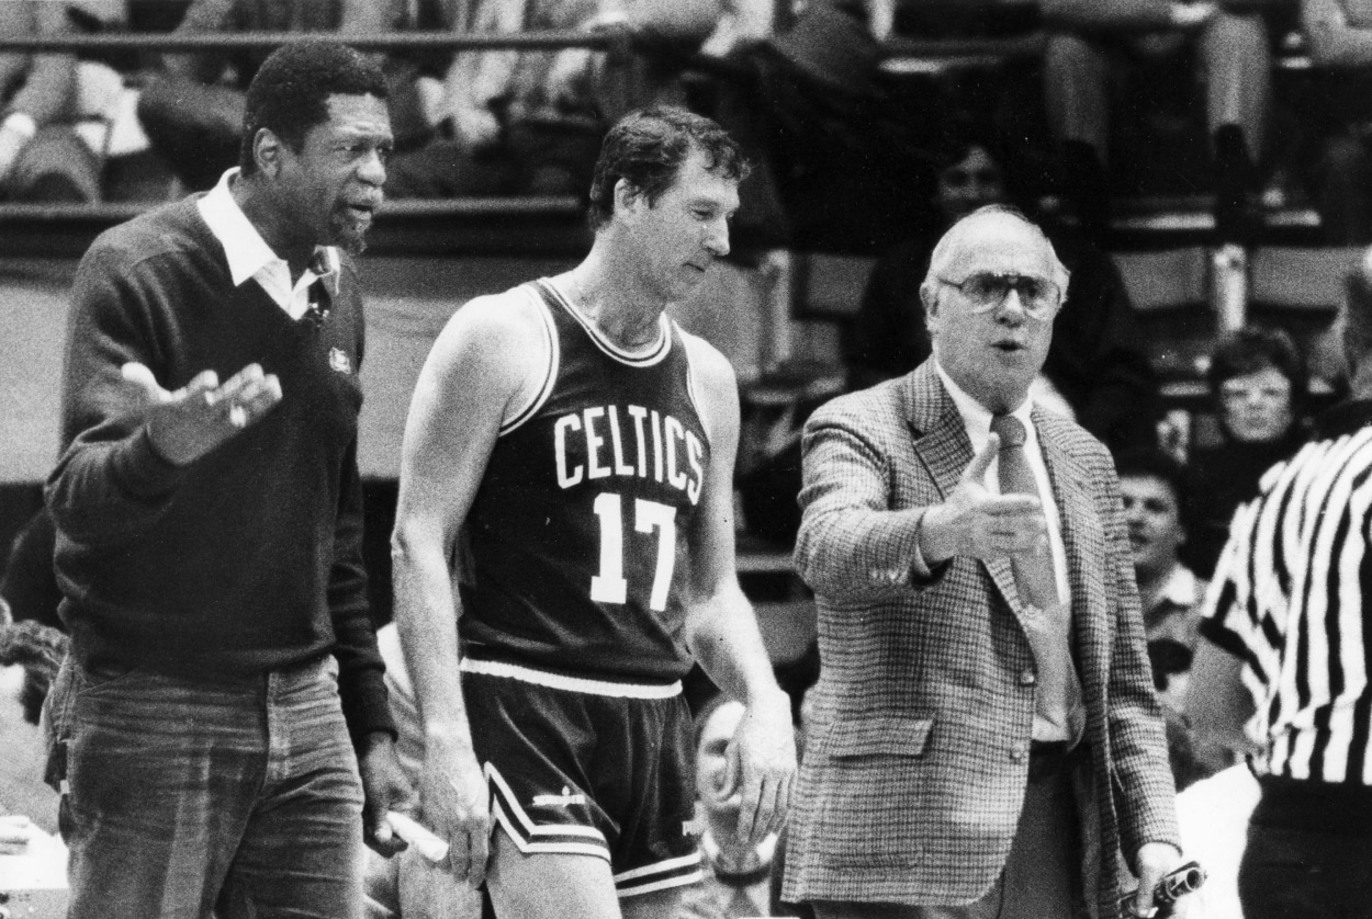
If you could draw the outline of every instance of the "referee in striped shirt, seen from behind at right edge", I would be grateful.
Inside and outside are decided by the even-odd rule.
[[[1246,919],[1372,915],[1372,250],[1342,332],[1351,398],[1235,514],[1192,675],[1202,721],[1250,716]]]

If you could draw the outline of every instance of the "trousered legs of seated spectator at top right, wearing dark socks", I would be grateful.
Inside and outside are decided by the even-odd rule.
[[[1107,165],[1113,115],[1140,86],[1179,67],[1199,69],[1214,154],[1217,233],[1251,233],[1246,199],[1255,191],[1270,89],[1268,30],[1254,7],[1264,0],[1043,0],[1051,29],[1044,92],[1062,145],[1062,176],[1091,233],[1109,219]],[[1129,84],[1124,84],[1129,80]],[[1170,84],[1170,80],[1168,81]],[[1125,95],[1121,85],[1129,85]],[[1114,92],[1111,92],[1114,91]]]

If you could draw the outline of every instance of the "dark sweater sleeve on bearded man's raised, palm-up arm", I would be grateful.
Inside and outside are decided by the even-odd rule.
[[[118,542],[159,518],[185,476],[152,449],[128,362],[166,385],[154,335],[156,285],[117,247],[96,241],[73,284],[62,384],[63,453],[47,499],[70,539]]]

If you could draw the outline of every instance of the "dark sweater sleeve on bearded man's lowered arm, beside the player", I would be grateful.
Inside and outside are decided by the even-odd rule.
[[[353,742],[361,746],[372,731],[386,731],[394,738],[395,721],[383,679],[386,664],[376,646],[362,564],[362,480],[357,468],[355,439],[343,459],[329,576],[329,614],[333,617],[333,656],[339,661],[343,717]]]

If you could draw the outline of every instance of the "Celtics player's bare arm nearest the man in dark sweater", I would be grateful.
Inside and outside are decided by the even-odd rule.
[[[395,620],[424,721],[421,816],[449,842],[453,874],[472,886],[486,874],[490,812],[458,682],[449,560],[501,420],[528,398],[525,380],[546,350],[542,336],[521,298],[480,298],[461,307],[420,373],[401,458],[391,557]]]

